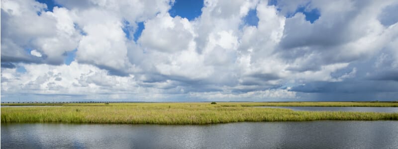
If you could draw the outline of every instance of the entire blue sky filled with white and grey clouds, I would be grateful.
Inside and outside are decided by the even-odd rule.
[[[1,0],[1,101],[396,101],[397,0]]]

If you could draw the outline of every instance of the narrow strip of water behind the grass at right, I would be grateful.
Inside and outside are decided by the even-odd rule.
[[[398,112],[398,107],[284,107],[260,106],[260,108],[287,108],[295,111],[354,111],[354,112]]]

